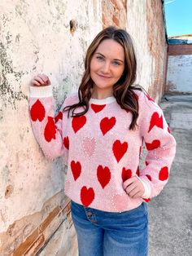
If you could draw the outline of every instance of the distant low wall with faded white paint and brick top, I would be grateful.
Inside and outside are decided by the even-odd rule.
[[[192,93],[192,45],[168,46],[166,92]]]

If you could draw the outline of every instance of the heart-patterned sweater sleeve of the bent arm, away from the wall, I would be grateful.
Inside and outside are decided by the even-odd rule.
[[[170,133],[162,109],[144,93],[139,96],[139,108],[138,125],[147,149],[146,166],[140,170],[139,178],[146,188],[142,198],[150,201],[168,182],[176,140]]]

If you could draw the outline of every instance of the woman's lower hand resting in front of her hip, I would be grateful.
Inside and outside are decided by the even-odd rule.
[[[125,180],[123,186],[124,191],[132,198],[142,197],[145,192],[145,188],[137,176],[133,176],[130,179]]]

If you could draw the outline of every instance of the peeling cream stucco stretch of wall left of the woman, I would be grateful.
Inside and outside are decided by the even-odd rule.
[[[103,27],[101,3],[15,0],[1,1],[0,10],[0,254],[34,254],[64,220],[63,254],[72,255],[66,168],[60,159],[46,161],[34,139],[28,83],[46,73],[55,108],[77,89],[86,48]]]

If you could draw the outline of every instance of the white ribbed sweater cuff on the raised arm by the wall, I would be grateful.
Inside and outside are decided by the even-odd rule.
[[[52,86],[29,86],[30,97],[44,98],[53,96]]]

